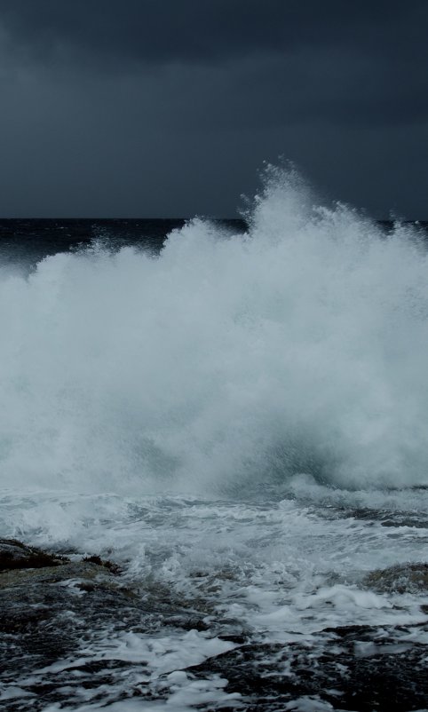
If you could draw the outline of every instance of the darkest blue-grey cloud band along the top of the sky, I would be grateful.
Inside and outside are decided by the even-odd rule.
[[[12,44],[41,61],[226,61],[293,47],[424,51],[424,0],[1,0]],[[419,44],[418,41],[421,41]],[[362,47],[361,47],[362,49]],[[426,56],[426,55],[425,55]]]

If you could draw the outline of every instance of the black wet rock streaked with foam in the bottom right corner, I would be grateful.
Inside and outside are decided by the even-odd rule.
[[[322,704],[342,712],[422,710],[428,700],[426,646],[410,642],[408,632],[346,626],[322,631],[311,642],[241,645],[189,671],[196,679],[226,678],[225,692],[240,693],[246,712]],[[299,699],[307,706],[300,707]]]

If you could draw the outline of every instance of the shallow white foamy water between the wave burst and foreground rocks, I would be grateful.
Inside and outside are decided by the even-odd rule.
[[[364,659],[428,643],[428,590],[409,582],[408,590],[382,590],[366,580],[376,569],[425,560],[426,491],[337,492],[305,477],[275,494],[243,502],[4,494],[4,534],[75,558],[109,558],[123,568],[121,585],[146,603],[146,617],[125,625],[90,617],[81,643],[51,664],[21,659],[16,675],[4,676],[4,700],[15,695],[18,705],[11,709],[28,690],[39,699],[43,685],[57,700],[41,707],[49,710],[107,702],[132,710],[253,709],[244,684],[242,692],[236,680],[232,692],[227,687],[226,653],[254,651],[247,674],[256,662],[267,666],[274,690],[296,646],[321,657],[346,627],[371,630],[369,639],[352,641]],[[91,596],[76,581],[62,585]],[[343,667],[345,680],[345,660]],[[289,700],[281,685],[277,698]]]

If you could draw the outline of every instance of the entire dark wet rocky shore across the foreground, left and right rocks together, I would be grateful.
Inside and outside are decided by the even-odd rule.
[[[379,591],[426,590],[428,566],[372,572],[365,585]],[[144,700],[167,700],[168,676],[147,676],[141,682],[142,661],[97,657],[93,651],[107,630],[156,638],[171,628],[203,631],[234,644],[186,668],[186,679],[227,681],[230,701],[198,707],[207,712],[300,709],[293,700],[304,698],[326,710],[353,712],[410,712],[428,704],[428,649],[413,640],[412,629],[346,626],[321,631],[316,645],[262,644],[233,621],[229,628],[227,621],[223,627],[211,624],[202,599],[190,605],[159,583],[153,588],[147,581],[144,588],[130,584],[117,566],[99,557],[59,556],[0,540],[0,611],[5,712],[37,712],[50,705],[78,709],[77,702],[70,702],[77,688],[85,691],[86,704],[108,708],[120,702],[109,691],[123,676],[129,676],[123,701],[140,699],[143,709]],[[422,612],[428,613],[424,606]],[[428,636],[428,618],[417,628]]]

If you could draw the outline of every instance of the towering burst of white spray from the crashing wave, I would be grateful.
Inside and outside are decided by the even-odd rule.
[[[0,265],[4,486],[428,485],[428,257],[269,168],[232,234]]]

